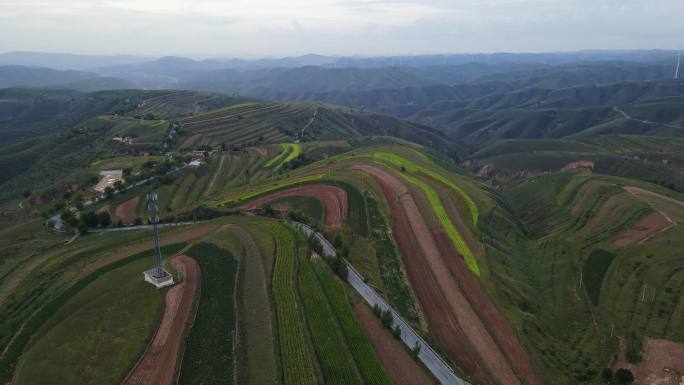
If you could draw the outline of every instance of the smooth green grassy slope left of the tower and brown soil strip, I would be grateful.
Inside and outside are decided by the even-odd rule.
[[[14,383],[118,384],[161,314],[163,292],[140,279],[149,264],[141,259],[103,274],[61,306],[22,355]]]

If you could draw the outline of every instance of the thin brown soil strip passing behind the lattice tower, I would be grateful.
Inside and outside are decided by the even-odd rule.
[[[173,243],[188,242],[194,239],[204,238],[219,228],[218,224],[215,223],[205,223],[199,225],[193,225],[188,228],[187,231],[176,232],[168,235],[161,236],[160,245],[166,246]],[[150,238],[152,238],[152,232],[150,231]],[[100,267],[109,265],[110,263],[122,260],[124,258],[130,257],[133,254],[141,253],[145,250],[149,250],[153,247],[152,241],[133,245],[119,250],[114,254],[104,256],[96,261],[91,262],[86,266],[79,277],[84,277],[93,271],[99,269]]]

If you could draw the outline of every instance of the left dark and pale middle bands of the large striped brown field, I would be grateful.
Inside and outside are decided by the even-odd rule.
[[[477,383],[517,384],[514,373],[450,276],[406,187],[374,166],[355,164],[380,185],[393,214],[393,231],[430,330],[449,357]]]

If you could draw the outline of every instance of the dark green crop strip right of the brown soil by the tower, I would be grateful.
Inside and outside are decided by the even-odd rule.
[[[237,260],[211,243],[198,243],[186,254],[200,267],[202,294],[178,383],[232,384]]]

